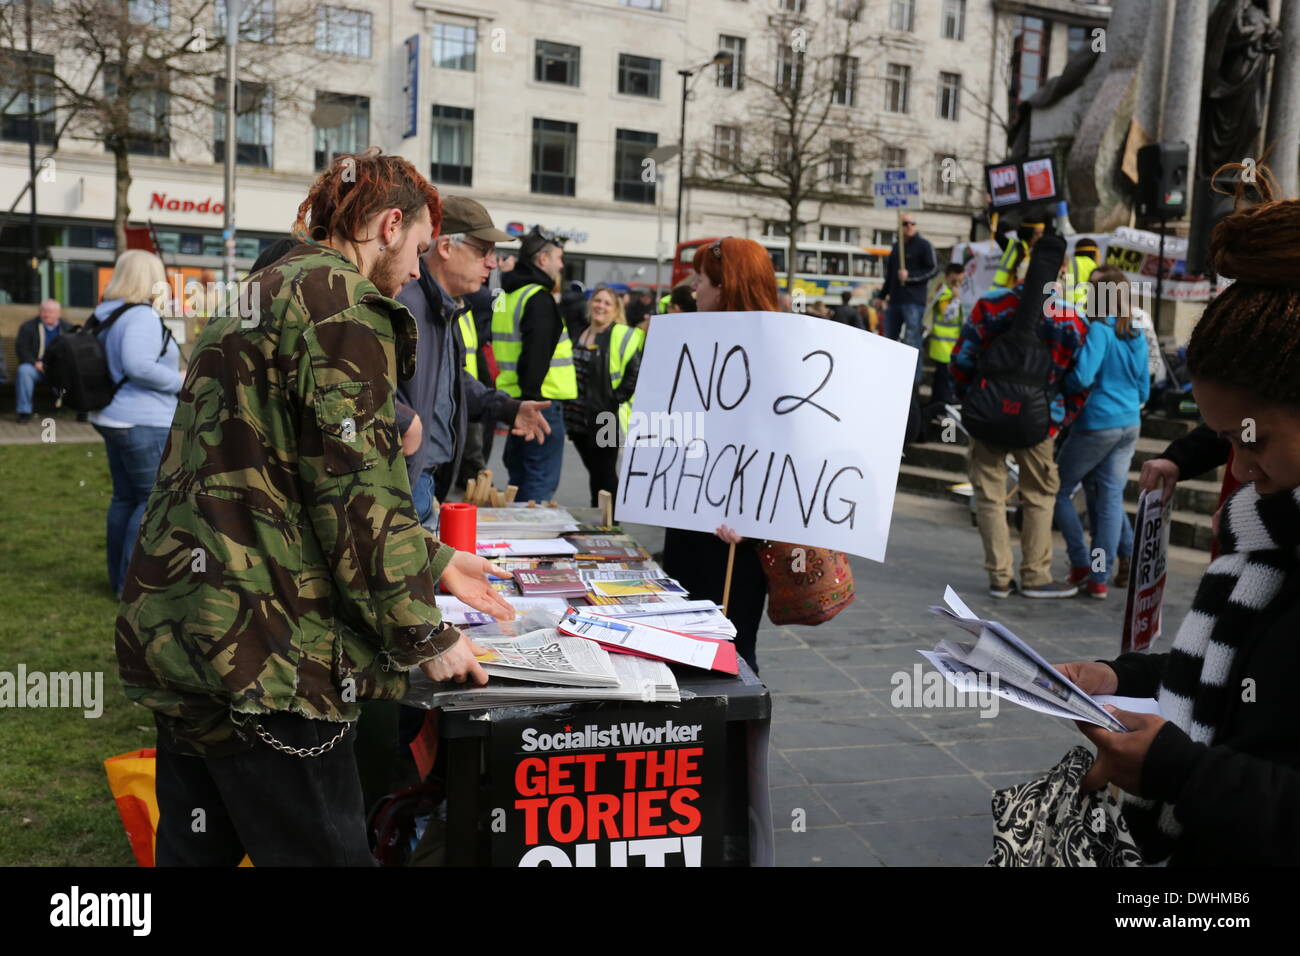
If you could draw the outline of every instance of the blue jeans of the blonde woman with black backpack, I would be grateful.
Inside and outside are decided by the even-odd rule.
[[[113,477],[113,501],[108,506],[108,583],[113,593],[121,596],[135,538],[140,536],[144,505],[153,490],[153,479],[157,477],[170,429],[156,425],[95,425],[95,431],[104,437],[108,472]]]

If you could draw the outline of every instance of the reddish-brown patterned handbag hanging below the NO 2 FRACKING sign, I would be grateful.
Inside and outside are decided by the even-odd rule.
[[[774,624],[822,624],[853,604],[853,568],[844,551],[764,541],[758,559]]]

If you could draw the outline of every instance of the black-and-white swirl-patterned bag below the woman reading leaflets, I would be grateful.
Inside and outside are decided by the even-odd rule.
[[[1079,790],[1091,767],[1092,753],[1075,747],[1043,777],[994,791],[987,866],[1141,866],[1109,788]]]

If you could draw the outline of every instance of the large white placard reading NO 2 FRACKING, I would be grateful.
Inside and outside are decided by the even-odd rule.
[[[884,561],[916,350],[780,312],[656,315],[623,453],[623,522]]]

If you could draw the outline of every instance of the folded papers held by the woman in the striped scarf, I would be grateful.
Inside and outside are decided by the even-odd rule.
[[[946,607],[931,606],[930,610],[976,637],[974,644],[940,641],[932,652],[919,652],[950,684],[966,692],[992,691],[1053,717],[1087,721],[1112,731],[1127,730],[1102,706],[1112,698],[1098,700],[1080,691],[1006,627],[976,618],[952,588],[944,592],[944,602]]]

